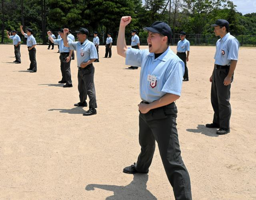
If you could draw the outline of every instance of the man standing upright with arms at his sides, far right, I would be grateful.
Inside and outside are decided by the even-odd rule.
[[[225,135],[230,132],[230,88],[238,61],[239,42],[230,35],[228,21],[220,19],[212,26],[215,36],[220,36],[220,39],[216,42],[214,69],[210,77],[214,116],[212,123],[206,124],[206,127],[219,128],[216,134]]]

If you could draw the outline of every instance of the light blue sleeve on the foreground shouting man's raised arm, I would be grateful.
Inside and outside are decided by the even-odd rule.
[[[126,50],[125,64],[131,65],[134,67],[141,67],[143,51],[145,51],[145,50],[138,50],[138,49],[133,49],[133,48],[129,47]]]

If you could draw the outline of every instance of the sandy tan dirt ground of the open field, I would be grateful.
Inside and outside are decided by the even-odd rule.
[[[136,162],[140,69],[128,70],[112,47],[112,58],[95,66],[97,115],[82,116],[76,59],[72,88],[63,88],[57,46],[36,46],[37,73],[21,46],[0,45],[0,199],[173,200],[158,149],[147,174],[124,174]],[[143,46],[142,49],[146,49]],[[171,46],[176,53],[176,46]],[[218,136],[212,122],[209,77],[215,47],[191,46],[189,81],[178,107],[182,158],[194,200],[256,199],[256,48],[240,48],[231,87],[231,132]]]

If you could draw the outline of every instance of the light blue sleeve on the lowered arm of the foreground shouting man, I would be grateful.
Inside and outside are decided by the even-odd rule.
[[[182,79],[184,74],[184,62],[181,60],[171,63],[172,67],[167,71],[166,82],[162,92],[180,96],[182,90]]]

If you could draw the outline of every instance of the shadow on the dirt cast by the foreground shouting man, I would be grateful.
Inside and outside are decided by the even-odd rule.
[[[127,186],[89,184],[86,190],[100,188],[102,190],[113,191],[113,196],[108,196],[106,200],[156,200],[157,198],[147,190],[148,174],[133,174],[133,181]]]

